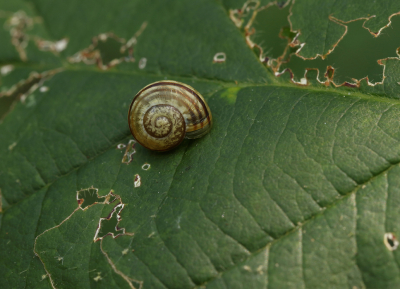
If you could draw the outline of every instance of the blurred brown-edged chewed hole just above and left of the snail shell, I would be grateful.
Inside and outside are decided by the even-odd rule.
[[[111,32],[99,34],[92,38],[92,44],[75,53],[68,60],[71,63],[96,64],[102,70],[107,70],[122,62],[135,62],[133,48],[137,44],[137,38],[142,34],[146,26],[147,22],[144,22],[129,40],[118,37]],[[143,66],[143,62],[141,65]],[[143,68],[145,66],[146,64],[144,63]]]

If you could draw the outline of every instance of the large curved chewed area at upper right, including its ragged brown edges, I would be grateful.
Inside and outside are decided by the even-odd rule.
[[[290,22],[290,17],[294,13],[293,7],[299,5],[299,2],[290,2],[290,7],[289,2],[270,2],[261,6],[260,1],[246,1],[242,8],[233,9],[230,13],[231,20],[235,25],[243,29],[248,46],[255,50],[260,62],[272,69],[275,76],[288,78],[289,81],[300,86],[315,83],[325,86],[359,88],[363,86],[363,83],[370,87],[383,84],[386,77],[384,62],[388,59],[387,56],[394,54],[397,48],[397,46],[394,46],[396,45],[394,39],[398,32],[387,31],[385,35],[378,39],[371,38],[370,35],[380,35],[383,28],[392,24],[392,17],[398,13],[392,14],[389,17],[388,24],[377,33],[372,33],[370,29],[365,27],[366,21],[373,16],[342,21],[337,17],[328,15],[328,20],[334,23],[332,25],[343,27],[344,33],[335,40],[335,44],[328,49],[327,53],[305,58],[300,55],[300,51],[305,45],[305,43],[299,41],[301,31],[294,31]],[[310,17],[314,19],[318,16]],[[362,27],[361,24],[355,22],[360,19],[364,20]],[[397,20],[393,23],[397,25]],[[281,26],[279,27],[279,25]],[[396,31],[397,26],[394,28]],[[277,29],[280,29],[279,33],[277,31],[275,34],[271,32]],[[366,29],[371,34],[363,33]],[[326,31],[326,33],[326,37],[328,37],[330,32]],[[391,38],[388,34],[391,35]],[[279,38],[285,41],[279,42],[276,35],[279,35]],[[344,38],[345,35],[346,38]],[[362,39],[354,43],[353,39],[360,37]],[[335,48],[339,42],[341,43],[341,50],[336,52]],[[311,43],[308,43],[308,45],[311,45]],[[332,54],[334,50],[335,53]],[[363,51],[363,53],[360,53],[360,51]],[[357,61],[356,65],[350,65],[350,63],[354,63],[354,61],[350,62],[349,56],[347,56],[351,53],[357,55],[357,57],[353,57],[353,59],[356,58],[354,59],[354,61]],[[361,58],[361,55],[364,54],[366,56]],[[329,57],[327,57],[328,55]],[[325,58],[326,60],[324,60]],[[390,57],[390,59],[393,59],[393,57]],[[396,57],[396,59],[398,58]],[[383,69],[379,65],[383,66]],[[377,76],[378,79],[376,79]]]

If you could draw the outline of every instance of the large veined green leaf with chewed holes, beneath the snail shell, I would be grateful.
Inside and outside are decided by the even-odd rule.
[[[0,124],[0,288],[400,286],[398,60],[373,88],[295,86],[246,45],[236,2],[0,1],[4,23],[42,19],[22,30],[26,62],[7,23],[0,34],[14,66],[0,100],[16,85]],[[140,27],[135,62],[69,61],[113,32],[106,62]],[[35,37],[69,43],[44,51]],[[128,107],[161,79],[198,90],[213,129],[167,153],[135,143],[128,162]]]

